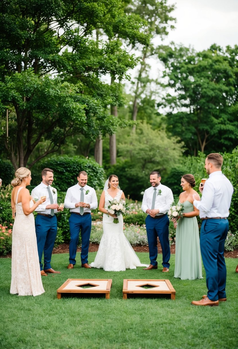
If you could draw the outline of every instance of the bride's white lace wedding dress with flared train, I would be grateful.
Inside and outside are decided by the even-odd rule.
[[[112,198],[105,190],[105,209],[109,206],[109,200],[120,200],[122,190],[115,198]],[[141,264],[131,244],[123,233],[123,217],[118,216],[119,223],[113,223],[113,217],[103,214],[103,236],[98,248],[95,261],[90,264],[93,268],[103,268],[107,272],[120,272],[136,267],[148,267]]]

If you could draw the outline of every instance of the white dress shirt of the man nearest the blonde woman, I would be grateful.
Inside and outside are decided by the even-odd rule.
[[[53,201],[54,201],[53,203],[57,203],[57,190],[55,188],[51,187],[50,185],[49,185],[49,187],[50,187],[50,191],[51,191],[51,194],[53,197]],[[45,185],[44,183],[41,182],[39,185],[37,185],[37,187],[32,189],[31,196],[33,199],[36,199],[36,200],[39,200],[41,196],[46,196],[45,202],[43,202],[41,205],[39,205],[35,209],[35,211],[38,213],[44,213],[46,215],[50,215],[51,209],[50,208],[46,209],[47,205],[51,205],[47,185]],[[57,209],[54,209],[54,213],[58,213]]]

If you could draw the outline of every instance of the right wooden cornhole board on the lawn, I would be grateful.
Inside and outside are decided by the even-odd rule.
[[[151,287],[151,288],[150,288]],[[175,293],[171,282],[168,279],[124,279],[123,299],[127,299],[127,294],[170,294],[171,299],[175,299]]]

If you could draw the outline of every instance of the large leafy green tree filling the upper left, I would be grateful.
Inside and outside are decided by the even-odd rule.
[[[121,0],[0,3],[1,141],[14,168],[31,167],[70,135],[95,141],[115,132],[108,105],[122,103],[121,90],[102,76],[120,81],[135,65],[120,38],[146,42],[141,18],[124,7]],[[104,40],[95,39],[99,31]],[[38,154],[44,140],[49,146]]]

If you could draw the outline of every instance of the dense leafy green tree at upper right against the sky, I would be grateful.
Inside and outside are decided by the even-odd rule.
[[[187,153],[232,151],[238,138],[238,46],[223,50],[215,44],[195,52],[186,47],[161,46],[164,77],[175,94],[163,105],[168,131],[184,141]]]

